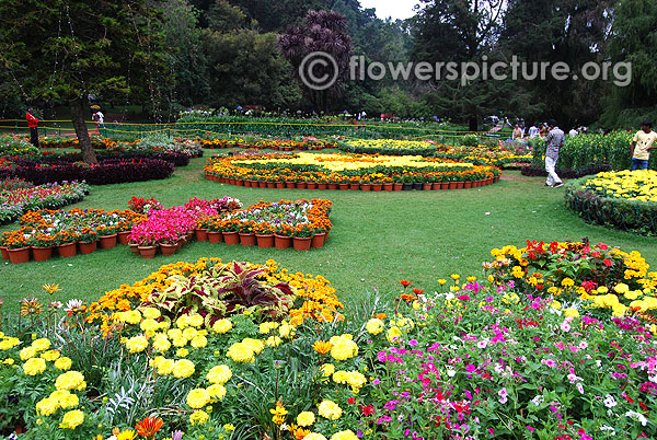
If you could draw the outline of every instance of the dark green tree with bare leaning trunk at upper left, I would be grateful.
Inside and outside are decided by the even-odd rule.
[[[2,1],[0,21],[0,62],[26,101],[68,103],[87,162],[96,162],[84,124],[90,95],[161,101],[161,16],[146,0]]]

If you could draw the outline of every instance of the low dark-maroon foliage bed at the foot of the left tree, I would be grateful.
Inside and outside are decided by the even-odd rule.
[[[24,178],[35,184],[85,181],[90,185],[162,180],[173,174],[171,162],[159,159],[107,159],[96,164],[84,162],[12,159],[0,161],[0,180]]]

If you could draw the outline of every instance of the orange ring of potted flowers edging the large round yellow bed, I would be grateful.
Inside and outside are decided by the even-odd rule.
[[[346,159],[376,159],[377,155],[345,154]],[[234,161],[267,160],[267,159],[293,159],[296,153],[261,153],[249,155],[224,155],[208,159],[205,166],[207,180],[226,183],[229,185],[257,187],[257,188],[298,188],[298,189],[351,189],[351,190],[438,190],[438,189],[462,189],[491,185],[499,181],[502,172],[494,166],[472,165],[468,171],[429,171],[422,169],[408,172],[406,167],[378,166],[369,172],[357,174],[323,172],[308,167],[307,170],[290,170],[289,166],[272,169],[251,169],[237,165]],[[453,163],[439,159],[424,159],[440,164]],[[315,166],[316,167],[316,166]],[[399,169],[399,170],[397,170]],[[404,171],[405,169],[405,171]],[[366,169],[367,170],[367,169]],[[485,178],[477,178],[485,177]]]

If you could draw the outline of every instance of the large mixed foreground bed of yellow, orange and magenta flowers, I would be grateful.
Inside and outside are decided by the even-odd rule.
[[[532,262],[526,267],[542,266],[530,253],[543,245],[505,250],[493,252],[502,265],[520,252]],[[394,303],[378,299],[345,320],[332,306],[327,322],[272,316],[268,304],[228,312],[243,283],[252,293],[283,282],[276,289],[291,293],[279,297],[284,309],[297,294],[290,314],[307,309],[296,308],[296,283],[327,286],[322,277],[286,281],[289,273],[270,264],[178,263],[89,308],[69,301],[57,331],[48,325],[56,308],[42,326],[14,325],[0,336],[9,384],[0,397],[13,403],[0,430],[67,439],[113,430],[208,440],[657,436],[657,325],[556,304],[545,290],[503,279],[500,267],[491,267],[492,281],[402,280]],[[230,292],[212,291],[211,279]],[[32,322],[37,305],[25,303]]]

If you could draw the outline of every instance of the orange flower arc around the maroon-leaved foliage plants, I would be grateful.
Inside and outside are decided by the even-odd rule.
[[[85,320],[88,323],[100,324],[101,329],[108,334],[114,329],[113,319],[116,312],[136,309],[142,302],[147,302],[150,294],[155,290],[168,289],[174,281],[173,276],[198,276],[208,267],[219,264],[221,264],[221,258],[200,258],[196,263],[178,262],[162,266],[158,271],[152,273],[141,281],[137,281],[131,286],[122,285],[118,289],[105,292],[103,297],[89,306]],[[290,274],[285,268],[279,269],[278,264],[273,259],[267,260],[265,265],[251,263],[247,263],[247,265],[249,268],[263,270],[267,282],[274,285],[287,282],[297,289],[300,304],[289,312],[290,322],[295,325],[301,324],[304,320],[320,322],[344,320],[344,316],[339,313],[344,305],[337,300],[335,289],[331,287],[331,282],[326,278],[320,275],[315,277],[310,274]]]

